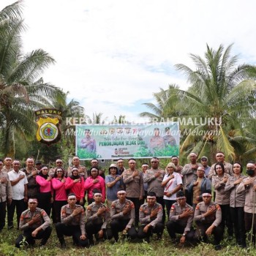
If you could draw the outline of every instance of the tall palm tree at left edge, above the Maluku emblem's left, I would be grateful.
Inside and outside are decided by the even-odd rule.
[[[22,1],[0,11],[0,128],[4,154],[15,156],[15,137],[31,138],[34,110],[50,104],[56,87],[40,78],[54,59],[42,49],[22,53]]]

